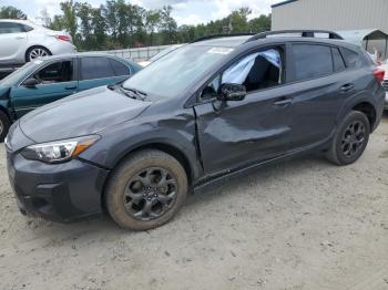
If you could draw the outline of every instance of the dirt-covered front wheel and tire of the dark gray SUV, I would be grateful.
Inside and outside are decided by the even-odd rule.
[[[186,195],[187,176],[182,165],[169,154],[146,149],[114,169],[105,190],[105,206],[120,227],[149,230],[170,221]]]

